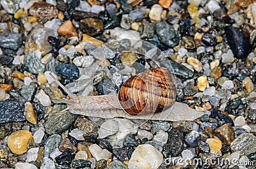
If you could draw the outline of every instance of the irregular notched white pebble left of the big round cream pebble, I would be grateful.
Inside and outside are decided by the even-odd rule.
[[[111,158],[111,152],[109,152],[107,149],[102,149],[97,144],[90,145],[89,150],[92,153],[93,158],[96,159],[96,161],[99,161],[100,159],[108,160],[109,158]]]

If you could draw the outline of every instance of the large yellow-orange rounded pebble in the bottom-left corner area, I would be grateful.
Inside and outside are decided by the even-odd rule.
[[[14,154],[23,154],[28,151],[28,143],[32,135],[28,130],[19,130],[10,134],[7,145]]]

